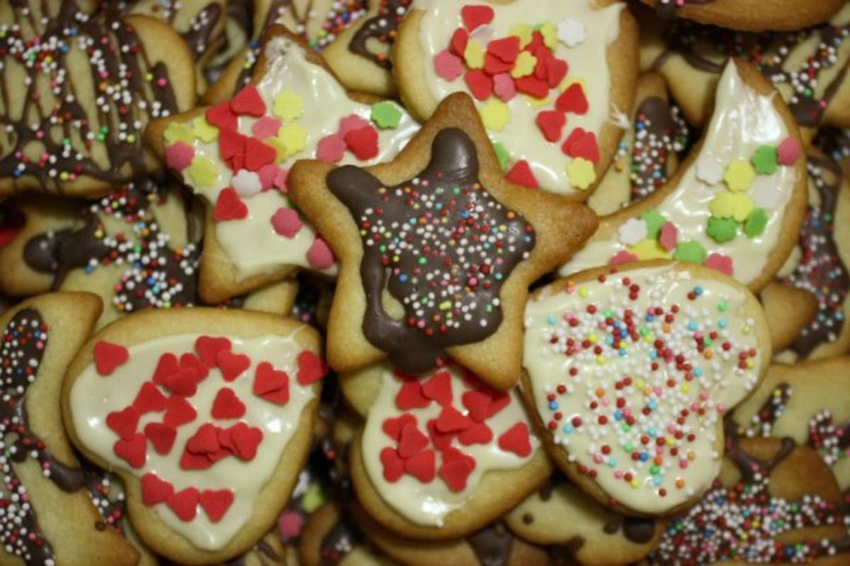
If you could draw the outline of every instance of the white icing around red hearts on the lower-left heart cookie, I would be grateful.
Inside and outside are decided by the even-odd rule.
[[[233,490],[233,504],[218,523],[213,523],[200,506],[195,518],[188,523],[178,518],[165,503],[151,507],[163,523],[184,535],[193,545],[214,551],[226,546],[251,518],[254,501],[272,477],[280,455],[295,433],[301,412],[314,398],[314,393],[312,388],[301,386],[295,378],[298,370],[296,357],[303,350],[295,340],[295,333],[289,337],[267,336],[249,340],[231,337],[233,352],[250,356],[251,367],[233,382],[225,382],[221,371],[212,368],[209,376],[198,385],[197,393],[187,399],[198,415],[195,421],[178,427],[177,439],[171,452],[161,456],[148,442],[144,467],[129,467],[127,461],[116,456],[113,451],[118,436],[106,426],[106,416],[112,411],[122,410],[133,404],[139,388],[153,376],[161,354],[172,352],[179,357],[184,352],[194,352],[195,340],[199,336],[201,335],[169,336],[132,346],[128,348],[129,362],[119,366],[108,377],[100,376],[94,364],[88,366],[74,382],[70,402],[77,437],[88,450],[92,450],[112,468],[126,470],[138,478],[144,473],[156,473],[160,478],[171,482],[175,492],[189,487],[198,490]],[[289,375],[289,401],[286,405],[269,403],[252,393],[254,372],[263,361],[268,361],[276,370],[286,371]],[[212,401],[218,390],[223,387],[233,389],[246,405],[245,416],[241,419],[212,419]],[[168,396],[167,390],[161,391]],[[162,416],[161,412],[145,414],[139,421],[137,431],[143,431],[149,422],[162,422]],[[179,467],[178,462],[186,440],[190,439],[202,424],[212,422],[226,428],[238,421],[244,421],[250,427],[259,427],[263,431],[263,440],[258,446],[257,456],[252,461],[241,461],[231,456],[216,462],[206,470],[184,470]]]

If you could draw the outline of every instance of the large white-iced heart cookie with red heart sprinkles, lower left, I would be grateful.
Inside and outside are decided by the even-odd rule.
[[[225,561],[269,532],[295,487],[325,373],[319,348],[317,332],[269,314],[136,313],[71,363],[65,428],[122,478],[146,545],[179,563]]]

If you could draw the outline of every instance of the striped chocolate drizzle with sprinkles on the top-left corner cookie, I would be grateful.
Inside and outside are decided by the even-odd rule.
[[[19,118],[8,113],[14,107],[10,91],[20,85],[0,87],[5,109],[0,126],[8,140],[0,177],[36,178],[46,190],[61,190],[63,182],[81,175],[126,182],[147,169],[142,133],[148,117],[177,110],[167,68],[150,63],[133,28],[116,20],[112,10],[85,14],[74,0],[58,4],[58,14],[37,20],[26,3],[14,3],[15,27],[4,26],[4,65],[16,61],[27,82]],[[48,14],[47,3],[42,11]],[[37,41],[21,29],[36,30]],[[99,89],[96,116],[77,99],[67,60],[72,48],[88,56],[91,81]],[[53,86],[49,99],[38,92],[47,81]],[[105,158],[95,157],[100,148]],[[40,157],[31,158],[34,153]]]

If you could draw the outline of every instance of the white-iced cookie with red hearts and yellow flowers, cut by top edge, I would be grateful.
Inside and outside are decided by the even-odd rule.
[[[405,106],[424,121],[450,93],[472,94],[509,178],[587,199],[634,100],[638,29],[626,4],[437,4],[414,3],[399,28]]]

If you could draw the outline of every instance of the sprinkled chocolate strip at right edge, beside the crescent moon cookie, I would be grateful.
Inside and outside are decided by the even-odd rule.
[[[836,179],[835,183],[827,181],[826,172]],[[818,299],[818,314],[791,344],[791,349],[801,358],[807,358],[821,344],[835,342],[841,334],[844,302],[850,290],[850,275],[835,240],[842,169],[828,159],[809,156],[808,173],[820,204],[807,208],[800,233],[802,258],[794,272],[782,279]]]

